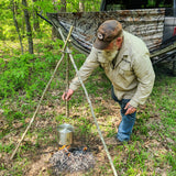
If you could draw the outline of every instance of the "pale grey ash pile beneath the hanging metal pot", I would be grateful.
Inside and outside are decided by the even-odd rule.
[[[87,151],[87,147],[79,150],[59,148],[50,158],[55,175],[62,173],[86,172],[95,166],[94,155]]]

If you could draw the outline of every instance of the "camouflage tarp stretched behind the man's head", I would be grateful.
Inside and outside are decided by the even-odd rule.
[[[88,54],[96,38],[98,26],[106,20],[120,21],[123,29],[141,37],[150,51],[162,44],[165,9],[118,10],[109,12],[47,13],[54,26],[61,28],[67,35],[74,25],[72,43]]]

